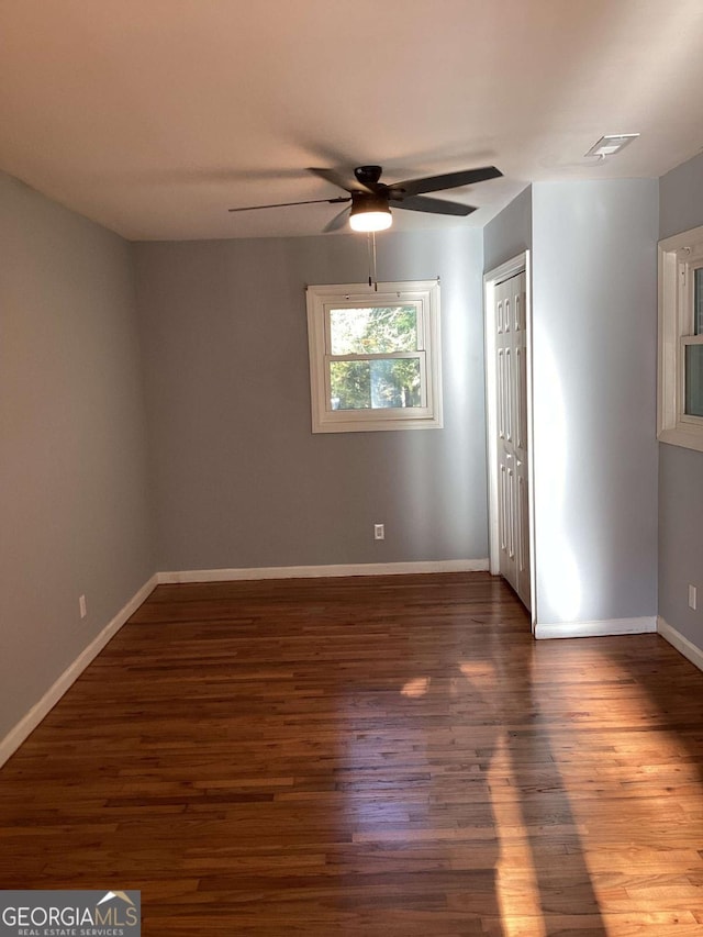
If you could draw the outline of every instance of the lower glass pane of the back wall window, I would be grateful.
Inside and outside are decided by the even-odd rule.
[[[420,359],[332,361],[333,410],[421,406]]]

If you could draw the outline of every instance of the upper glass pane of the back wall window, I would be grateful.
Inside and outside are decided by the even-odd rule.
[[[383,355],[417,349],[414,305],[330,310],[333,355]]]

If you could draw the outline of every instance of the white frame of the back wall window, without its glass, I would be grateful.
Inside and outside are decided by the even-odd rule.
[[[439,430],[442,417],[442,370],[439,345],[439,282],[337,283],[308,287],[308,342],[313,433],[359,433],[377,430]],[[378,355],[378,358],[420,359],[422,406],[378,410],[333,410],[330,391],[330,310],[413,303],[417,308],[416,352]],[[349,355],[339,356],[348,360]],[[369,356],[359,356],[366,359]]]

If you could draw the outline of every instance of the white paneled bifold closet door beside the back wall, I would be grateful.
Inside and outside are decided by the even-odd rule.
[[[498,283],[495,379],[500,572],[529,609],[526,277]]]

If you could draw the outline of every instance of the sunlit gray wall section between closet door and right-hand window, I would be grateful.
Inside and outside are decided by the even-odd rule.
[[[657,613],[656,180],[533,186],[537,621]]]

